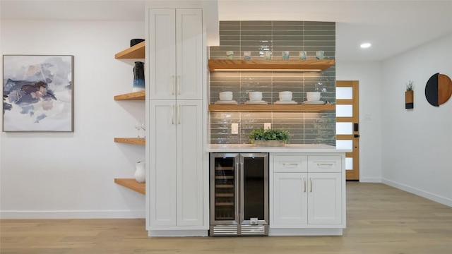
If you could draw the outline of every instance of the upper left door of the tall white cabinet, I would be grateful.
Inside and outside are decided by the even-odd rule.
[[[176,12],[150,9],[148,14],[149,99],[176,99]]]

